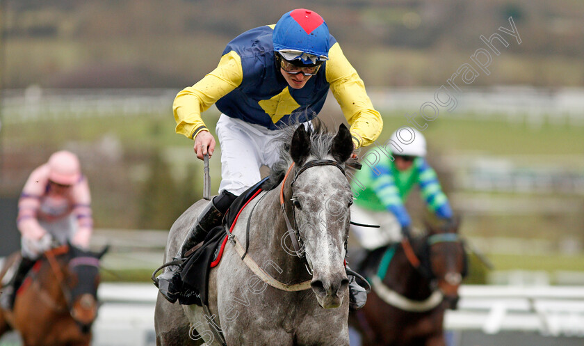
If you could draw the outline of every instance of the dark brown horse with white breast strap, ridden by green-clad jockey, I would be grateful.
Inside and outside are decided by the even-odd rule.
[[[366,306],[349,319],[362,345],[446,345],[444,310],[456,308],[468,268],[457,224],[375,250],[368,262],[378,263],[362,272],[373,290]]]

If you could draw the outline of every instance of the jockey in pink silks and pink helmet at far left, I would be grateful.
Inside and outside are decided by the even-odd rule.
[[[15,292],[44,251],[54,242],[87,249],[93,221],[87,179],[72,152],[58,151],[29,176],[18,201],[17,227],[22,233],[22,260],[3,288],[2,307],[12,310]]]

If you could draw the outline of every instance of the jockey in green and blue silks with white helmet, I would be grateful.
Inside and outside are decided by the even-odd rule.
[[[352,228],[361,245],[368,250],[399,241],[401,235],[409,235],[412,220],[404,201],[414,184],[419,184],[423,200],[437,217],[448,222],[453,217],[436,172],[425,159],[426,141],[423,134],[411,127],[402,127],[391,134],[389,143],[391,156],[378,152],[381,158],[378,164],[362,168],[351,182],[352,190],[359,191],[351,206],[351,219],[381,226]]]

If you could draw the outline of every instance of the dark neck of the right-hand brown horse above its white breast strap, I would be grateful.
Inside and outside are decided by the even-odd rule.
[[[412,246],[415,245],[412,244]],[[384,283],[409,299],[422,300],[432,294],[430,281],[412,266],[405,255],[403,246],[398,247]]]

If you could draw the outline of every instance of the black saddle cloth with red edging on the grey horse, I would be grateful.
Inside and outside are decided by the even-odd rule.
[[[188,255],[181,271],[183,292],[179,295],[179,304],[209,305],[207,300],[209,272],[211,272],[212,267],[216,267],[219,264],[223,249],[227,244],[227,237],[236,223],[239,213],[260,191],[267,191],[275,186],[277,184],[273,184],[268,178],[264,178],[243,192],[227,210],[224,223],[210,230],[203,241],[203,245]]]

